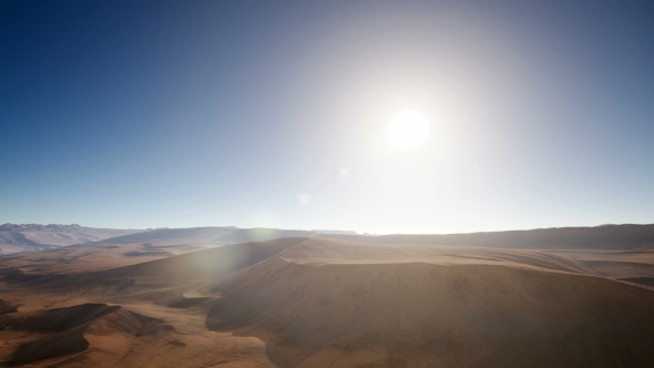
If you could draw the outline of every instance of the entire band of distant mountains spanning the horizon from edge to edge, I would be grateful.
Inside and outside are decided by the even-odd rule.
[[[59,246],[102,242],[182,242],[221,246],[264,242],[284,237],[316,237],[375,244],[426,244],[483,246],[513,249],[654,249],[654,225],[601,225],[470,234],[359,235],[349,231],[294,231],[238,228],[234,226],[112,229],[80,225],[0,225],[0,255],[33,252]]]

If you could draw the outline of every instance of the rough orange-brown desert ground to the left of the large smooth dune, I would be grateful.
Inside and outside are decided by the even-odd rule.
[[[29,277],[4,277],[9,284],[0,284],[6,298],[0,303],[6,311],[0,319],[0,361],[38,367],[269,367],[259,339],[205,327],[206,313],[216,298],[207,287],[213,279],[303,241],[306,238],[211,248],[109,270],[102,269],[115,262],[111,258],[120,258],[120,253],[110,251],[124,252],[141,243],[94,252],[79,247],[76,257],[69,254],[68,266],[73,270],[58,269],[53,263],[23,274]],[[7,263],[29,268],[30,262],[61,255],[61,251],[32,253]],[[93,266],[100,270],[89,272]],[[134,278],[151,278],[152,283],[131,283]],[[82,313],[89,303],[109,313]],[[143,320],[146,327],[139,327]],[[49,327],[52,324],[54,328]],[[152,324],[159,326],[155,333],[139,333]]]

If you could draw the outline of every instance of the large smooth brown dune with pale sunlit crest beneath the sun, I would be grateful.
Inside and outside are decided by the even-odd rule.
[[[283,367],[654,364],[652,292],[488,251],[308,241],[226,283],[206,325]]]

